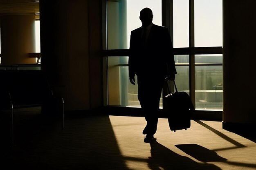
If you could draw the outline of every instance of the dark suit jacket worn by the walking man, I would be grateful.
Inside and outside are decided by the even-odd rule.
[[[129,51],[129,77],[166,77],[176,74],[173,45],[167,27],[153,24],[146,44],[143,43],[142,27],[131,31]]]

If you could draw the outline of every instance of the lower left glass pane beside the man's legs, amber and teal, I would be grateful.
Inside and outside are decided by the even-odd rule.
[[[137,94],[137,77],[135,85],[128,77],[128,56],[108,57],[108,105],[140,107]],[[162,96],[159,108],[162,108]]]

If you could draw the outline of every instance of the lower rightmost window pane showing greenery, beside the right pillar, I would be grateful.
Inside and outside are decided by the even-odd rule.
[[[196,55],[197,63],[222,61],[220,55]],[[197,110],[221,110],[222,66],[195,66],[195,108]]]

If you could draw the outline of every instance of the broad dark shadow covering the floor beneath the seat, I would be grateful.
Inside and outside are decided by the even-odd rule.
[[[108,116],[66,117],[63,131],[61,120],[16,111],[16,146],[10,145],[9,118],[0,114],[4,170],[128,170]]]

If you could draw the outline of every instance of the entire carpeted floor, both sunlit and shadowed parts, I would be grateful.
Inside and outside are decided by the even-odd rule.
[[[144,117],[67,116],[49,120],[40,109],[16,110],[16,146],[9,114],[1,113],[1,170],[255,170],[255,138],[222,129],[218,121],[191,120],[169,130],[159,119],[156,141],[144,143]]]

